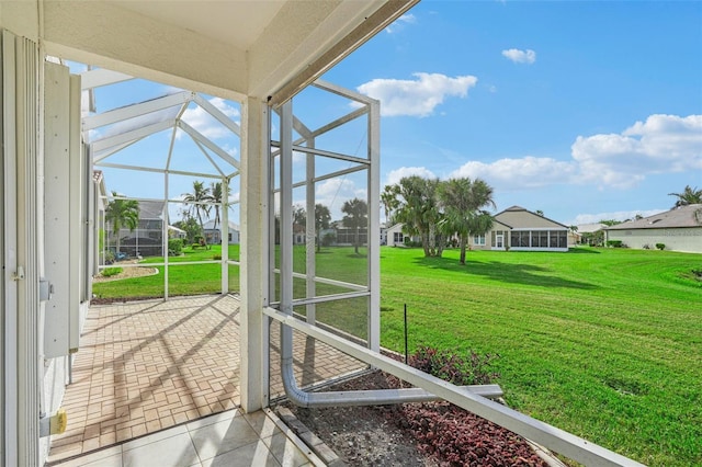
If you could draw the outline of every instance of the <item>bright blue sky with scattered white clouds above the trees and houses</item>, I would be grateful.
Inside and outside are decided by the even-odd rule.
[[[652,215],[702,187],[700,1],[424,0],[324,79],[381,100],[382,186],[479,176],[497,210],[566,225]],[[99,105],[134,102],[135,86]]]

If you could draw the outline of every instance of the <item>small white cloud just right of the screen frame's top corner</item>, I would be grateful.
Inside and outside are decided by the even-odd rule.
[[[381,115],[431,115],[446,96],[465,98],[478,79],[474,76],[455,78],[441,73],[412,73],[416,80],[374,79],[359,86],[359,92],[381,101]]]

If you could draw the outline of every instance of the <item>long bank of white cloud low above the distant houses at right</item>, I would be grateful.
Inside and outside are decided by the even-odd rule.
[[[649,174],[702,171],[702,115],[650,115],[621,134],[578,136],[571,159],[471,161],[449,176],[479,176],[497,190],[555,184],[631,189]]]

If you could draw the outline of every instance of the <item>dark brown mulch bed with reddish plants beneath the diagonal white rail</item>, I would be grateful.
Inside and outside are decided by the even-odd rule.
[[[373,372],[328,390],[397,387]],[[283,402],[352,466],[546,467],[520,436],[449,402],[304,409]]]

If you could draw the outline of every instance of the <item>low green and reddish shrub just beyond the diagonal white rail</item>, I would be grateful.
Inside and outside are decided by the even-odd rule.
[[[495,358],[499,358],[499,355],[479,355],[471,350],[468,357],[464,360],[445,350],[420,346],[409,357],[409,364],[454,385],[487,385],[500,377],[499,373],[490,368]]]

